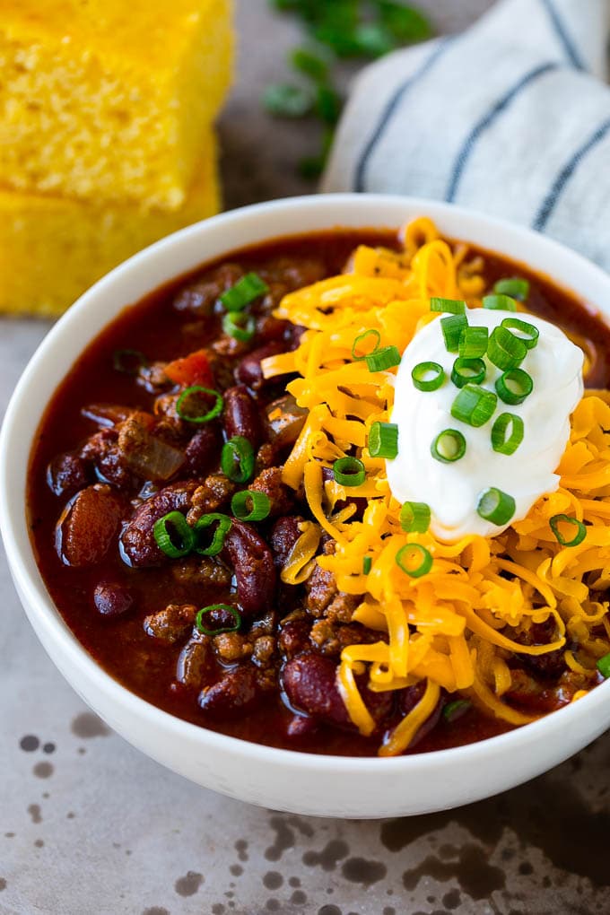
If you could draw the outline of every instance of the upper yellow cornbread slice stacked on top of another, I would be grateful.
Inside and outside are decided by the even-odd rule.
[[[177,209],[232,64],[231,0],[3,0],[0,178]]]

